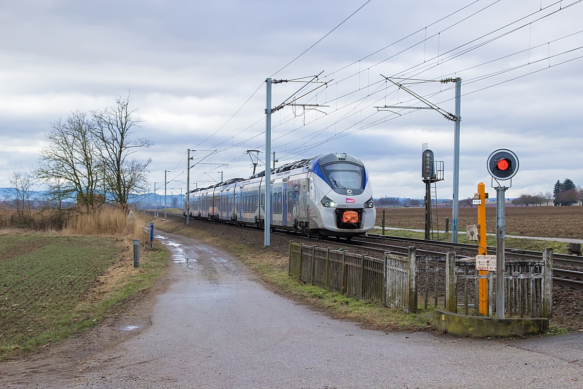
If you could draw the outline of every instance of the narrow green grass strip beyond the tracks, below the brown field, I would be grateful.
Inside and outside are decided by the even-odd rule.
[[[370,233],[382,234],[382,229],[374,229]],[[385,230],[385,235],[400,236],[406,238],[416,238],[423,239],[425,233],[409,231],[409,230]],[[441,241],[451,241],[451,233],[440,234]],[[459,234],[458,243],[466,244],[476,244],[476,241],[468,241],[464,234]],[[495,236],[486,236],[486,244],[488,246],[496,246]],[[524,239],[524,238],[510,238],[505,239],[506,248],[515,248],[517,250],[533,250],[533,251],[543,251],[546,247],[552,247],[553,253],[557,254],[567,254],[567,249],[569,244],[566,242],[559,242],[555,240],[536,240],[536,239]]]

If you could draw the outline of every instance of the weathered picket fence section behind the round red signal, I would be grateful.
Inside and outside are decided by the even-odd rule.
[[[447,258],[446,307],[479,316],[479,279],[486,279],[487,316],[496,316],[496,272],[479,275],[474,258]],[[553,251],[546,248],[540,260],[505,260],[505,317],[552,317]],[[461,303],[458,304],[458,302]]]

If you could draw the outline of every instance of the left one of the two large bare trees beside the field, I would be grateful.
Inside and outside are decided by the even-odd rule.
[[[81,202],[89,212],[97,205],[95,192],[103,176],[93,136],[94,121],[87,113],[75,111],[51,127],[52,131],[45,134],[49,145],[41,149],[34,174],[54,191],[52,197],[62,200],[76,193],[78,205]]]

